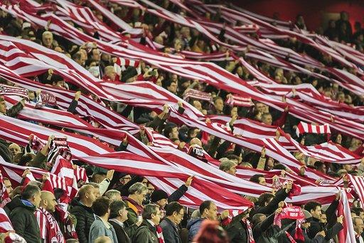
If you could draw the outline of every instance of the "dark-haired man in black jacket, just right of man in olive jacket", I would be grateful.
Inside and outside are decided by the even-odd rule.
[[[166,243],[181,243],[181,237],[178,232],[178,224],[183,219],[184,208],[178,202],[171,202],[166,205],[166,217],[161,224],[164,242]]]

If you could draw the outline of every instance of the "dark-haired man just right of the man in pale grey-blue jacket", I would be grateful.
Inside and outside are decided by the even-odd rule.
[[[125,229],[124,222],[128,219],[127,205],[122,200],[114,200],[110,204],[110,217],[109,223],[114,227],[117,234],[117,242],[131,243],[130,236],[134,234],[137,229],[137,224],[132,227],[134,229],[129,230],[129,234]]]

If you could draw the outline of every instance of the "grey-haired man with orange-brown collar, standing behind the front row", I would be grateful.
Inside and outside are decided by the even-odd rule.
[[[141,182],[137,182],[129,187],[129,197],[122,197],[127,205],[128,219],[125,222],[127,227],[132,227],[133,224],[141,221],[138,217],[143,212],[143,206],[141,205],[146,197],[146,186]]]

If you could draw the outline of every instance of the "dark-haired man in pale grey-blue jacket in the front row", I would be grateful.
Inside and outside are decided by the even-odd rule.
[[[107,222],[110,214],[110,200],[107,197],[99,197],[92,204],[92,210],[96,215],[96,219],[92,222],[89,233],[89,242],[94,242],[100,236],[106,236],[112,242],[117,241],[117,234],[112,224]]]

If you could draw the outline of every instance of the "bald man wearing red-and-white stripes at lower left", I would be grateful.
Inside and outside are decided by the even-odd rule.
[[[55,217],[53,217],[56,205],[57,202],[55,201],[55,196],[52,192],[41,192],[41,202],[34,214],[36,215],[43,242],[51,243],[65,241],[60,226],[57,220],[55,220]]]

